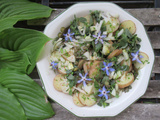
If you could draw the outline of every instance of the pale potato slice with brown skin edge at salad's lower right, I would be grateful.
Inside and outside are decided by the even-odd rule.
[[[120,79],[120,82],[118,82],[119,88],[125,88],[131,85],[134,81],[134,75],[132,73],[127,73],[126,76],[123,79]]]

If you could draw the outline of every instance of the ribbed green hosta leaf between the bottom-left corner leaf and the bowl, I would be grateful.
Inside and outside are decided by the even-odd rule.
[[[0,84],[14,94],[28,119],[39,120],[54,115],[45,92],[26,74],[2,69],[0,70]]]

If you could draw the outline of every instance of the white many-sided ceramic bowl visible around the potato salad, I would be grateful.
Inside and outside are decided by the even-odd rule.
[[[76,116],[115,116],[126,109],[129,105],[134,103],[145,93],[154,63],[154,53],[142,23],[119,6],[108,2],[79,3],[73,5],[55,18],[52,22],[50,22],[46,26],[44,34],[51,38],[55,38],[61,27],[67,27],[70,24],[70,21],[74,19],[74,15],[77,17],[85,16],[89,14],[89,10],[100,10],[104,12],[108,11],[112,14],[117,13],[120,15],[119,19],[121,22],[124,20],[132,20],[136,24],[136,34],[138,34],[138,37],[142,39],[140,51],[148,54],[150,64],[147,64],[143,69],[140,70],[138,80],[134,81],[132,84],[132,89],[128,93],[123,93],[119,98],[114,99],[110,106],[106,108],[99,107],[97,105],[92,107],[76,106],[73,103],[72,96],[58,92],[53,87],[55,73],[53,70],[49,69],[49,57],[53,46],[52,41],[45,45],[37,62],[37,68],[48,96]]]

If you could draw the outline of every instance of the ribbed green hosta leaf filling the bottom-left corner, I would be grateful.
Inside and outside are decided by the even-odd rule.
[[[0,84],[0,120],[26,120],[21,104],[16,97]]]

